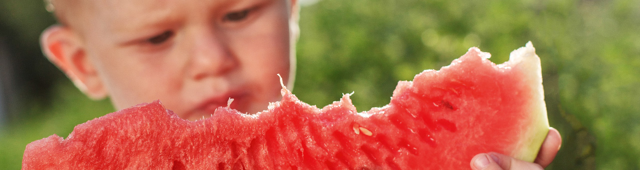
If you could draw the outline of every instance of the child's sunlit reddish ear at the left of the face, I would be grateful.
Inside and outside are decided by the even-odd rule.
[[[81,39],[72,29],[60,25],[48,27],[40,36],[40,46],[47,59],[58,66],[85,95],[94,100],[107,96],[95,66],[86,56]]]

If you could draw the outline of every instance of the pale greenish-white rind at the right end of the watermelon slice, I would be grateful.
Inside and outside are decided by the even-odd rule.
[[[522,140],[522,143],[517,144],[516,148],[522,148],[522,150],[516,150],[515,153],[513,153],[515,158],[533,162],[549,130],[545,92],[542,86],[540,57],[536,54],[536,49],[533,47],[533,44],[527,42],[525,47],[513,50],[513,52],[509,54],[509,61],[504,64],[511,66],[518,65],[515,68],[521,68],[522,73],[527,78],[525,81],[529,81],[525,84],[530,84],[532,91],[537,91],[529,107],[531,107],[531,112],[533,113],[531,122],[538,124],[532,125],[532,127],[525,127],[528,129],[522,129],[522,132],[525,132],[522,136],[529,139]]]

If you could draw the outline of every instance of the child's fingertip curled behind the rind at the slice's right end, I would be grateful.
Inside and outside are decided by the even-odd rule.
[[[540,164],[542,167],[547,167],[551,162],[556,158],[556,154],[558,150],[560,150],[560,146],[562,144],[562,137],[560,137],[560,132],[556,130],[556,128],[549,128],[549,133],[547,134],[547,138],[542,143],[540,148],[540,152],[538,152],[538,157],[534,162],[536,164]]]

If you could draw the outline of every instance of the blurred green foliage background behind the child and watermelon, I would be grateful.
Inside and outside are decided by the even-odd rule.
[[[0,26],[7,27],[1,36],[36,51],[15,52],[35,56],[22,64],[44,75],[55,72],[46,76],[54,77],[45,79],[47,90],[21,93],[29,101],[22,116],[0,132],[0,167],[6,169],[20,168],[29,142],[66,137],[75,125],[113,111],[107,100],[90,101],[42,64],[37,37],[52,24],[43,6],[0,1],[6,14]],[[542,59],[550,124],[563,135],[547,169],[640,169],[638,0],[323,0],[302,7],[300,26],[293,93],[321,107],[355,91],[358,111],[387,104],[397,81],[449,65],[469,47],[502,63],[531,41]]]

